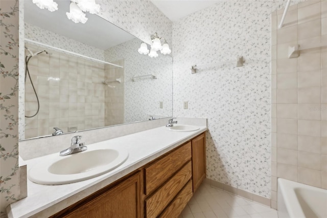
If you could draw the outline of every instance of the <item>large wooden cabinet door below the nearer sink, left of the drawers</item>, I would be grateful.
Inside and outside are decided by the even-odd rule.
[[[53,217],[136,218],[142,217],[142,172],[127,178],[104,193],[92,194]],[[101,191],[101,190],[100,190]],[[67,214],[68,213],[68,214]]]

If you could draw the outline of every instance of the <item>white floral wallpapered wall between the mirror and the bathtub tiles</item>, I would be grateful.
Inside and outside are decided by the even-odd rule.
[[[284,6],[283,1],[219,1],[173,23],[174,116],[208,119],[207,178],[266,198],[270,14]],[[235,68],[239,55],[246,62]],[[212,63],[217,67],[201,68]],[[200,69],[191,74],[194,64]],[[189,101],[188,110],[183,101]]]

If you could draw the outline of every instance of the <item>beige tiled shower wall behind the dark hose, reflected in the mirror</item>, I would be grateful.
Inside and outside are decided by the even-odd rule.
[[[35,51],[42,51],[26,44]],[[32,57],[30,75],[40,101],[36,116],[25,118],[25,138],[51,135],[54,127],[74,132],[104,126],[105,64],[49,50]],[[28,53],[27,53],[28,54]],[[27,76],[25,115],[37,112],[37,100]],[[110,92],[110,91],[109,91]]]

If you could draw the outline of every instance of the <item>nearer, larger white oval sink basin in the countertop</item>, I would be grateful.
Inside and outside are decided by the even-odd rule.
[[[121,148],[85,150],[73,155],[53,154],[28,173],[32,182],[43,185],[62,185],[91,179],[123,164],[128,152]]]

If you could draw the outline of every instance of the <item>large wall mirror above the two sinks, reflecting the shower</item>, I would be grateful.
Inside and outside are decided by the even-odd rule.
[[[70,1],[57,3],[24,1],[19,140],[172,116],[171,56],[139,54],[140,39],[95,14],[75,24]]]

